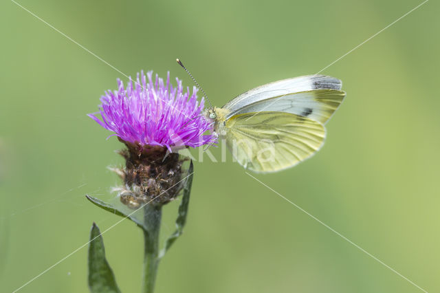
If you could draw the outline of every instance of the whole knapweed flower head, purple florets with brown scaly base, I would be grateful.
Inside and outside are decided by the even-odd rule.
[[[197,101],[196,87],[190,94],[177,78],[177,87],[170,85],[169,73],[166,83],[157,76],[153,81],[152,76],[153,72],[141,72],[126,87],[118,80],[118,90],[107,91],[100,111],[89,114],[126,145],[119,152],[125,166],[112,170],[124,182],[114,190],[129,208],[150,202],[162,206],[175,199],[183,188],[183,164],[188,160],[176,151],[213,144],[216,139],[205,134],[212,127],[202,114],[203,98]]]

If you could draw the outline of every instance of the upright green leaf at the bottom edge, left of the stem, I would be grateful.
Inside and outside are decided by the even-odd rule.
[[[95,223],[90,231],[89,289],[92,293],[120,293],[115,275],[105,259],[104,241]]]

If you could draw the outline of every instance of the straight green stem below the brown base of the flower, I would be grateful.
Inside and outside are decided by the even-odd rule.
[[[159,267],[159,230],[162,207],[145,206],[144,222],[144,286],[143,293],[153,293]]]

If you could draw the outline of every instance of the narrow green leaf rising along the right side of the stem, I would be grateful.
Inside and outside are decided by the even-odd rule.
[[[190,203],[190,193],[192,185],[192,174],[194,173],[194,166],[192,165],[192,160],[190,162],[190,167],[188,169],[188,177],[186,178],[184,186],[184,195],[182,196],[181,203],[179,206],[179,211],[176,219],[176,230],[175,232],[166,239],[165,246],[159,253],[159,259],[164,257],[165,252],[173,245],[176,239],[184,232],[184,226],[186,224],[186,216],[188,215],[188,205]]]

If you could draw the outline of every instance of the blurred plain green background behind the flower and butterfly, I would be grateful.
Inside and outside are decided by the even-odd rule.
[[[181,58],[221,106],[320,71],[421,1],[19,3],[124,74],[169,70],[192,87]],[[347,91],[325,147],[255,175],[428,292],[440,291],[439,8],[429,1],[325,69]],[[12,1],[0,10],[0,291],[12,292],[86,243],[93,221],[120,219],[84,197],[113,197],[106,167],[122,163],[122,144],[86,113],[126,78]],[[230,160],[196,162],[191,196],[158,293],[421,292]],[[104,243],[122,291],[140,292],[140,230],[124,221]],[[86,260],[83,248],[21,292],[87,292]]]

